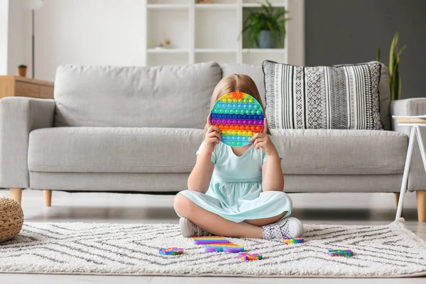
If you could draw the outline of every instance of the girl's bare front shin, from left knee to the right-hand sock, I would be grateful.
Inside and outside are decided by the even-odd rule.
[[[255,226],[246,222],[235,223],[209,212],[198,206],[184,195],[176,195],[174,202],[175,210],[182,217],[201,229],[218,236],[234,236],[237,238],[263,238],[261,226]],[[254,220],[256,221],[256,220]]]

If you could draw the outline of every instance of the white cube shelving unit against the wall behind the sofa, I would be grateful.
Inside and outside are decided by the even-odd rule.
[[[280,48],[260,49],[240,35],[250,11],[261,9],[262,0],[143,0],[146,6],[146,64],[175,65],[216,61],[260,65],[263,60],[288,62],[288,40]],[[272,0],[288,9],[288,0]],[[170,40],[168,48],[156,45]]]

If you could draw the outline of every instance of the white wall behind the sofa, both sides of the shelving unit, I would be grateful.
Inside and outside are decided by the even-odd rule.
[[[9,28],[9,73],[15,74],[16,66],[25,64],[31,77],[31,11],[23,10],[21,1],[11,0],[16,3],[9,14],[13,25]],[[35,78],[53,81],[56,67],[64,64],[143,65],[145,1],[44,0],[43,7],[35,11]],[[289,22],[288,60],[303,65],[304,0],[289,0],[289,9],[293,20]]]

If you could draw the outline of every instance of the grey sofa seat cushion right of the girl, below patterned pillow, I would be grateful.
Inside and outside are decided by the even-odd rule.
[[[273,129],[285,174],[380,175],[404,171],[408,136],[394,131]]]

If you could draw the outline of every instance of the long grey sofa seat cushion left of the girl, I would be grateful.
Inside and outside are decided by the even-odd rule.
[[[61,127],[31,131],[28,169],[66,173],[190,173],[202,129]]]

